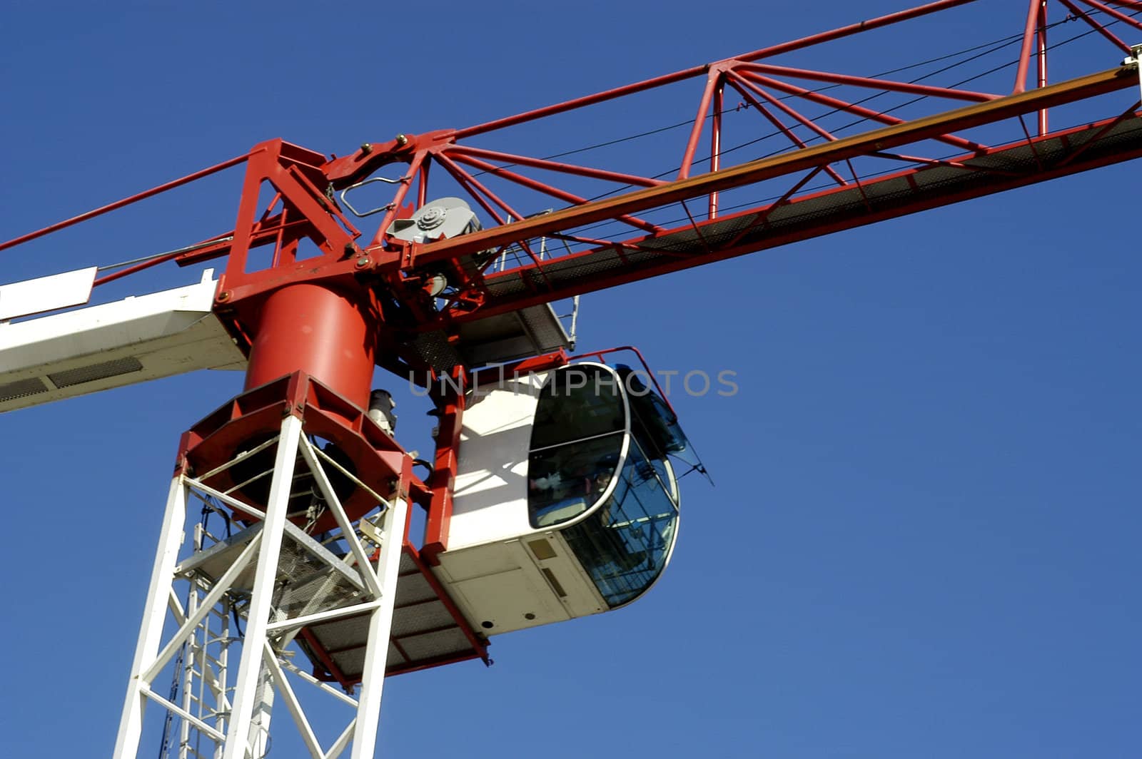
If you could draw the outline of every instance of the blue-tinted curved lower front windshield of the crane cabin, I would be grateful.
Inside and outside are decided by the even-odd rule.
[[[612,608],[642,594],[666,566],[678,508],[674,475],[632,441],[611,498],[595,514],[563,530],[568,544]],[[667,486],[669,483],[669,487]]]

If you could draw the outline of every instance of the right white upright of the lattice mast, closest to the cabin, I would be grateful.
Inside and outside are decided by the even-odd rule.
[[[393,628],[393,607],[396,601],[396,578],[401,571],[404,519],[409,509],[403,498],[386,509],[381,523],[385,541],[380,549],[377,583],[380,586],[380,606],[369,616],[369,641],[364,654],[361,695],[357,699],[356,725],[353,728],[353,759],[372,759],[380,724],[380,695],[385,685],[385,664],[388,660],[388,640]],[[372,565],[360,567],[372,572]]]

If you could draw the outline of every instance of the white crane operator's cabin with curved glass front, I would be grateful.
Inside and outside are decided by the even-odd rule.
[[[687,442],[633,370],[572,363],[474,390],[447,550],[434,567],[473,629],[510,632],[640,597],[677,536],[668,458]]]

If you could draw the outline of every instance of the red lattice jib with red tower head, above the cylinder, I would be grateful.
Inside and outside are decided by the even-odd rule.
[[[963,22],[955,14],[968,13],[979,39],[944,32],[963,29],[941,24],[946,17]],[[1142,155],[1139,54],[1127,41],[1142,38],[1140,19],[1142,0],[1027,0],[1015,7],[936,0],[486,123],[367,143],[341,158],[268,140],[0,250],[244,164],[233,231],[106,274],[97,284],[162,261],[227,256],[216,312],[241,346],[275,289],[364,285],[370,307],[385,314],[379,363],[401,376],[448,373],[452,365],[434,361],[419,344],[425,333],[440,342],[474,321]],[[939,56],[933,60],[958,63],[933,70],[906,59],[896,73],[884,74],[804,65],[806,53],[871,45],[868,35],[888,29],[923,38]],[[1075,41],[1081,43],[1069,45]],[[860,48],[833,59],[860,65],[853,50]],[[1005,63],[963,80],[971,88],[943,73],[996,51]],[[653,159],[652,165],[667,168],[661,173],[648,171],[646,160],[628,165],[642,150],[604,151],[602,165],[505,150],[514,143],[513,128],[538,130],[550,119],[592,124],[595,108],[637,108],[640,97],[657,98],[652,107],[661,107],[677,100],[678,90],[669,88],[697,82],[690,96],[697,95],[697,107],[682,100],[693,115],[676,124],[684,138]],[[777,150],[763,148],[770,138]],[[384,196],[391,200],[354,210],[346,193],[370,183],[391,187]],[[271,200],[259,204],[266,189]],[[481,211],[483,231],[413,242],[389,234],[393,221],[432,197],[455,194]],[[371,237],[353,226],[354,213],[377,213]],[[317,255],[303,256],[303,243]],[[263,245],[273,247],[272,263],[247,271],[250,251]]]

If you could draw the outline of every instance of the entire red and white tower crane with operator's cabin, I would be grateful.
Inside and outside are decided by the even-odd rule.
[[[893,71],[812,63],[976,5],[341,155],[270,139],[0,244],[241,176],[223,227],[0,285],[0,411],[244,373],[177,446],[114,756],[137,756],[148,725],[180,757],[262,757],[292,724],[311,756],[371,757],[386,675],[489,663],[493,636],[640,598],[674,551],[678,481],[706,467],[661,374],[633,348],[577,352],[560,310],[1142,153],[1136,0],[1031,0],[1002,35]],[[996,53],[1010,65],[960,75]],[[625,143],[518,137],[682,88],[693,116],[656,169]],[[210,268],[89,305],[160,266]],[[378,369],[432,399],[432,454],[401,442]],[[321,734],[305,689],[348,717]]]

